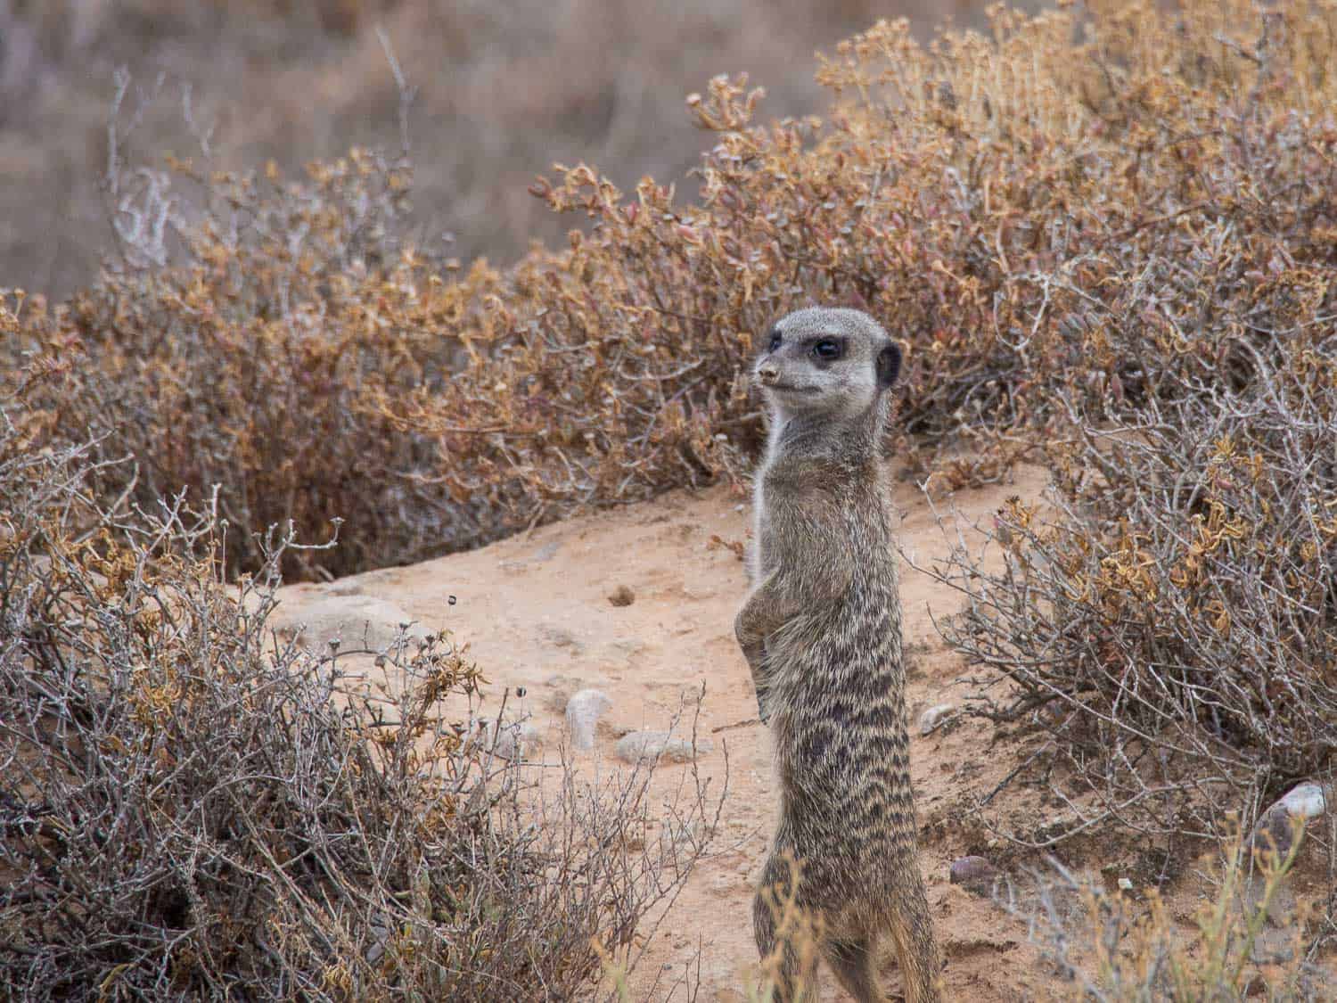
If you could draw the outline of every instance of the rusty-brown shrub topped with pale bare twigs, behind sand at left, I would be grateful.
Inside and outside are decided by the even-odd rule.
[[[337,548],[287,550],[289,576],[476,542],[496,522],[484,499],[452,497],[435,443],[366,401],[440,391],[452,333],[485,324],[496,275],[480,262],[444,284],[401,249],[408,169],[378,155],[354,150],[298,181],[172,167],[118,173],[122,254],[98,286],[49,314],[16,304],[16,352],[74,362],[41,399],[64,441],[106,433],[99,457],[134,460],[103,469],[99,492],[147,508],[219,485],[233,572],[259,567],[274,524],[322,540],[349,523]]]

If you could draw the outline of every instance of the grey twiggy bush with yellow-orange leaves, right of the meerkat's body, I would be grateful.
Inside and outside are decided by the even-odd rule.
[[[995,519],[999,570],[953,556],[947,635],[1016,683],[980,713],[1034,715],[1098,796],[1051,839],[1110,816],[1205,834],[1332,764],[1337,338],[1235,348],[1173,401],[1074,413],[1047,502]]]

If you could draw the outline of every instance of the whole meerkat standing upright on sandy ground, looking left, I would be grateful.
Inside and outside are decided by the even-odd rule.
[[[770,433],[755,479],[753,587],[734,625],[781,789],[753,905],[757,947],[763,959],[777,950],[774,889],[787,887],[793,859],[793,901],[861,1003],[886,999],[876,964],[886,933],[906,999],[941,992],[916,848],[882,452],[900,364],[896,342],[858,310],[798,310],[766,333],[753,374]],[[775,999],[816,1003],[816,954],[778,947]]]

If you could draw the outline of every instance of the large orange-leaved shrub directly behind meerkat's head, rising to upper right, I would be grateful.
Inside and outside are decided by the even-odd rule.
[[[1217,330],[1325,316],[1337,84],[1316,25],[1337,12],[1215,9],[1098,11],[1086,44],[1067,12],[929,51],[881,24],[824,68],[845,96],[825,127],[754,124],[757,94],[713,80],[690,100],[717,139],[701,202],[584,166],[541,182],[592,233],[515,273],[505,353],[388,408],[440,429],[447,476],[496,469],[535,516],[638,497],[729,469],[757,431],[753,334],[844,301],[910,344],[912,468],[996,480],[1066,423],[1056,391],[1169,395],[1162,356],[1210,365]],[[1211,41],[1249,24],[1243,55]],[[1209,43],[1218,60],[1183,60]]]

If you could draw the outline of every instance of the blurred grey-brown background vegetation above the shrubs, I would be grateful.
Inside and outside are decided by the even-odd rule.
[[[1028,4],[1035,5],[1035,4]],[[398,92],[377,28],[417,88],[420,246],[499,263],[574,225],[525,189],[554,162],[598,163],[624,190],[691,183],[702,147],[683,98],[747,72],[783,118],[825,107],[816,48],[878,17],[916,33],[980,24],[980,0],[0,0],[0,275],[64,298],[111,243],[103,177],[118,67],[159,86],[131,159],[198,154],[295,169],[397,146]],[[131,94],[123,108],[138,107]],[[136,158],[135,154],[139,154]],[[689,189],[682,189],[686,194]]]

